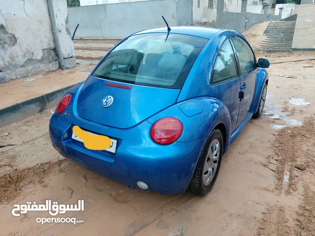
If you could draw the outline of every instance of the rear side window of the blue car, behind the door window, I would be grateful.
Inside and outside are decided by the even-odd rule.
[[[212,84],[238,76],[235,56],[230,41],[227,39],[219,50],[212,74]]]

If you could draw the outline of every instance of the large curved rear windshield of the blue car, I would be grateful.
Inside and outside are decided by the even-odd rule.
[[[174,33],[133,35],[109,53],[93,75],[129,84],[181,89],[207,41]]]

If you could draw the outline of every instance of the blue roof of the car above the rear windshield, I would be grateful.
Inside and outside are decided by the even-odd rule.
[[[186,34],[186,35],[210,39],[214,34],[222,30],[233,31],[233,30],[226,30],[226,29],[219,29],[219,28],[212,28],[212,27],[176,26],[176,27],[171,27],[170,33]],[[163,28],[157,28],[157,29],[147,29],[147,30],[136,32],[132,35],[144,34],[144,33],[167,33],[167,28],[163,27]]]

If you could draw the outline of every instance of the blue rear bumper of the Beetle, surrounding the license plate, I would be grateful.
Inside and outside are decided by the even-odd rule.
[[[187,189],[206,140],[204,138],[191,142],[175,142],[166,146],[157,145],[149,137],[151,124],[144,121],[137,125],[139,127],[126,131],[117,129],[117,134],[122,132],[126,134],[125,138],[118,140],[116,153],[111,154],[89,150],[71,139],[63,140],[65,131],[68,131],[71,137],[72,124],[80,126],[83,123],[74,119],[72,124],[64,124],[59,116],[56,114],[52,116],[49,133],[54,148],[65,158],[102,177],[126,185],[136,187],[137,181],[143,181],[148,184],[149,190],[162,195],[180,194]],[[89,123],[90,128],[95,124],[92,125],[91,121],[86,120],[85,126],[89,126]],[[110,137],[113,135],[113,132],[107,134],[108,127],[104,127],[104,131],[99,129],[91,131],[95,130]],[[129,137],[130,134],[133,134],[133,137]]]

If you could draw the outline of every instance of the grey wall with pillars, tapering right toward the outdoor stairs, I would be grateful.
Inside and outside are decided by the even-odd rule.
[[[243,1],[247,5],[246,0]],[[266,21],[280,21],[280,16],[269,15],[269,14],[254,14],[249,12],[226,12],[223,10],[223,2],[218,2],[217,7],[217,27],[223,29],[233,29],[238,32],[243,32],[244,30],[250,28],[254,24],[259,24]],[[245,28],[245,19],[247,18],[247,24]]]

